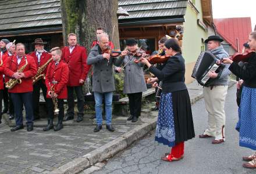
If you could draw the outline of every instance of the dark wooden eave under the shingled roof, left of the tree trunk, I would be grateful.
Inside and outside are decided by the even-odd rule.
[[[0,37],[16,37],[20,35],[51,34],[62,32],[62,26],[49,26],[44,28],[19,28],[17,30],[2,30]]]

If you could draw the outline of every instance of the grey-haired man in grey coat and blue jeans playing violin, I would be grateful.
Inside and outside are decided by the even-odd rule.
[[[95,99],[95,113],[97,126],[94,132],[99,132],[102,128],[102,97],[105,97],[106,129],[113,132],[115,128],[112,121],[112,96],[115,90],[113,78],[113,64],[116,59],[112,59],[109,53],[102,53],[108,49],[108,34],[105,32],[97,37],[98,44],[95,45],[87,58],[87,64],[93,64],[93,92]]]

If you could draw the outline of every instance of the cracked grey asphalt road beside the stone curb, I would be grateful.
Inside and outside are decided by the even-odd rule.
[[[256,169],[243,168],[243,155],[254,153],[239,147],[237,121],[236,87],[229,89],[226,111],[226,142],[212,144],[212,139],[199,139],[207,126],[207,111],[204,99],[192,106],[196,137],[185,143],[184,158],[181,161],[161,161],[161,156],[170,148],[154,141],[154,132],[134,143],[133,146],[109,159],[99,173],[256,173]]]

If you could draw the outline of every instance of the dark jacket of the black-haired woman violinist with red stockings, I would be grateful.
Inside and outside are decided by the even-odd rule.
[[[177,53],[168,59],[162,70],[154,66],[149,68],[162,84],[162,93],[170,93],[187,89],[185,85],[185,63],[182,55]]]

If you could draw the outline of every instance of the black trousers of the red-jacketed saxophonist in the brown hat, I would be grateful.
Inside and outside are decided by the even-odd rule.
[[[33,85],[33,113],[34,113],[34,118],[40,118],[39,116],[39,100],[40,100],[40,89],[42,89],[42,95],[44,96],[45,102],[47,101],[46,99],[46,93],[47,93],[47,88],[46,85],[43,83],[43,79],[40,79],[39,81],[35,82]]]

